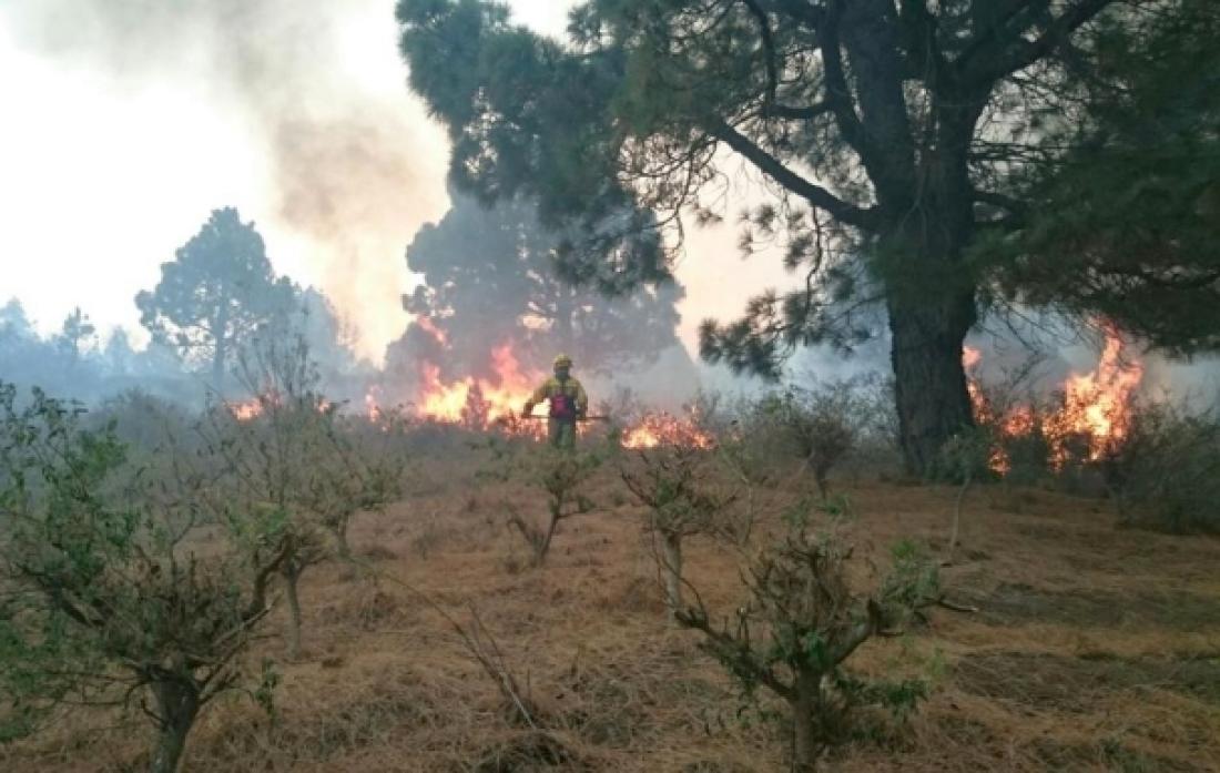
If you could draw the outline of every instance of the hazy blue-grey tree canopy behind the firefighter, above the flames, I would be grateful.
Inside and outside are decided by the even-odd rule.
[[[444,339],[444,351],[432,352],[453,368],[444,376],[493,376],[492,349],[506,343],[534,367],[565,351],[604,373],[650,365],[678,345],[680,285],[667,280],[599,297],[559,277],[561,241],[528,202],[488,208],[460,194],[438,223],[416,234],[406,260],[423,284],[404,305]]]

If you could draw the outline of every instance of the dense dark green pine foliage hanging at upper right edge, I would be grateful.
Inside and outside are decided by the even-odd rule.
[[[1030,171],[1038,206],[978,245],[1006,297],[1100,313],[1175,352],[1220,346],[1220,6],[1130,11],[1092,43],[1098,77],[1069,148]]]

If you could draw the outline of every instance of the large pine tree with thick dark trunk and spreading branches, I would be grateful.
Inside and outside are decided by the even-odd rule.
[[[1152,46],[1158,27],[1187,34],[1174,21],[1207,5],[587,0],[566,44],[486,0],[399,0],[398,21],[411,87],[449,129],[455,180],[484,198],[536,196],[544,219],[590,245],[569,266],[576,273],[637,279],[598,249],[590,218],[609,211],[608,193],[616,207],[654,213],[634,224],[665,234],[664,260],[681,245],[683,215],[721,215],[706,202],[723,193],[726,159],[743,160],[771,194],[743,243],[783,241],[804,282],[752,300],[738,322],[706,322],[704,356],[773,377],[798,346],[875,334],[861,312],[883,310],[903,450],[925,472],[972,422],[961,343],[981,302],[1065,304],[1144,330],[1155,324],[1122,297],[1155,297],[1166,273],[1192,304],[1215,295],[1205,272],[1176,282],[1171,263],[1205,258],[1181,250],[1148,251],[1155,269],[1092,293],[1059,280],[1096,272],[1088,261],[1048,282],[1036,261],[1017,272],[1005,271],[1015,258],[974,258],[997,244],[1032,254],[1035,228],[1043,251],[1071,246],[1078,222],[1057,233],[1041,219],[1075,204],[1055,180],[1110,135],[1099,95],[1139,80],[1142,55],[1127,66],[1108,46]],[[1146,148],[1126,137],[1139,140],[1130,152]],[[1091,250],[1111,267],[1107,254]]]

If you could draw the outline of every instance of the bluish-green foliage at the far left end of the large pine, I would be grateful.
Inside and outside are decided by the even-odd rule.
[[[560,276],[611,295],[670,278],[655,218],[616,182],[622,137],[606,118],[620,55],[569,56],[492,2],[401,0],[395,15],[411,88],[449,130],[460,190],[536,200],[560,233]]]

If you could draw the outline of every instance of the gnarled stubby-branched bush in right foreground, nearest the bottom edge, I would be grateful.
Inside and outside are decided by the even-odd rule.
[[[854,707],[905,711],[924,695],[921,683],[865,680],[845,663],[936,593],[935,567],[903,546],[893,573],[860,595],[849,583],[850,558],[833,534],[810,536],[795,528],[745,569],[749,599],[732,624],[714,625],[702,601],[677,613],[681,625],[703,634],[702,649],[733,675],[745,700],[756,702],[762,688],[783,701],[797,771],[813,771],[826,750],[845,740]]]

